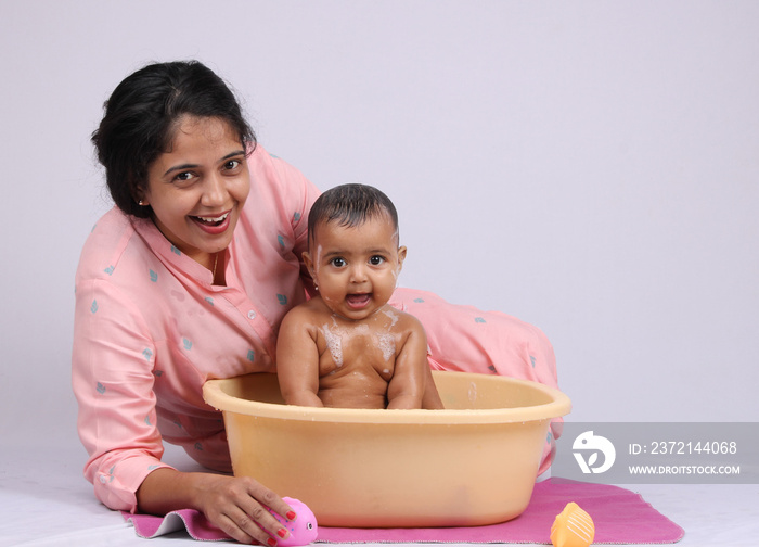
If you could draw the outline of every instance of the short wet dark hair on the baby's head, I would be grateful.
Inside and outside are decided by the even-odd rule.
[[[308,214],[308,240],[313,239],[321,222],[356,227],[369,218],[387,215],[398,230],[398,212],[390,199],[381,190],[366,185],[342,185],[325,191],[311,205]]]

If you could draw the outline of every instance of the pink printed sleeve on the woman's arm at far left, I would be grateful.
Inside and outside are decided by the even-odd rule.
[[[77,283],[72,384],[89,454],[85,476],[111,509],[134,511],[134,492],[160,461],[156,346],[134,304],[106,280]]]

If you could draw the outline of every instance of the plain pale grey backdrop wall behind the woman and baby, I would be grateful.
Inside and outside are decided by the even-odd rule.
[[[755,1],[0,0],[0,443],[77,443],[89,135],[189,58],[317,186],[396,201],[402,284],[543,329],[570,419],[757,421],[757,28]]]

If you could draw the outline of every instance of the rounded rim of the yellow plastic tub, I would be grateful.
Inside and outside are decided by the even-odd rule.
[[[269,372],[252,372],[242,376],[247,377],[252,374],[269,374]],[[441,425],[515,423],[559,418],[571,410],[571,402],[565,393],[531,380],[456,371],[433,371],[433,374],[456,374],[468,377],[472,380],[488,378],[489,380],[518,384],[527,389],[537,390],[551,397],[552,400],[540,405],[516,408],[443,410],[303,407],[242,399],[223,392],[222,386],[226,383],[233,382],[241,377],[207,380],[203,384],[203,398],[208,405],[223,412],[234,412],[258,418],[333,423],[424,423]]]

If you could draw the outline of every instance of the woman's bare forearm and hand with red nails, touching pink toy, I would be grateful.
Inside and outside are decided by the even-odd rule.
[[[197,509],[214,525],[244,544],[273,547],[278,538],[287,537],[287,530],[267,507],[287,520],[295,518],[293,509],[276,494],[248,476],[160,468],[145,478],[137,496],[144,512],[166,514],[177,509]]]

